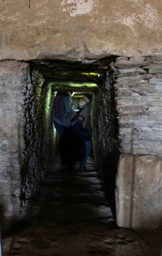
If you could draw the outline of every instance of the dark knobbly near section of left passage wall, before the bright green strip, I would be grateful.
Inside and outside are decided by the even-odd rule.
[[[43,99],[42,85],[43,77],[38,71],[28,76],[27,90],[23,95],[24,140],[25,147],[22,153],[22,185],[20,199],[22,205],[26,199],[36,191],[43,175],[40,164],[41,136],[43,129]]]

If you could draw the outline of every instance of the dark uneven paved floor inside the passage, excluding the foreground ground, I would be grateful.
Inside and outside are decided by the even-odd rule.
[[[88,161],[87,172],[62,170],[56,162],[50,166],[38,198],[30,200],[34,224],[114,223],[92,163],[92,160]]]

